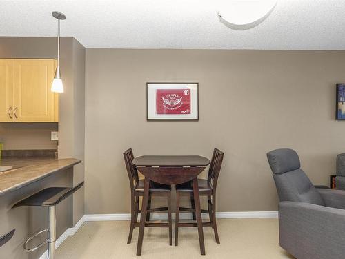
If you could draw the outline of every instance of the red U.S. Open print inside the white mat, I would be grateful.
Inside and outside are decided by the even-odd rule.
[[[157,89],[157,114],[190,114],[190,89]]]

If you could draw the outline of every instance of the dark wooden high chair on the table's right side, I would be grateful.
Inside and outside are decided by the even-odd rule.
[[[208,209],[201,209],[202,213],[208,213],[210,216],[210,222],[203,222],[203,227],[213,227],[215,232],[215,240],[217,244],[220,244],[218,231],[217,231],[217,222],[216,222],[216,189],[217,181],[221,169],[221,163],[223,162],[224,153],[219,149],[215,148],[213,151],[212,160],[210,162],[210,169],[208,170],[208,178],[198,179],[199,186],[199,195],[207,196],[208,200]],[[192,201],[192,208],[179,207],[180,196],[189,196]],[[193,204],[193,186],[191,182],[186,182],[184,184],[176,185],[176,219],[175,219],[175,246],[178,244],[179,238],[179,227],[197,227],[197,223],[179,223],[179,211],[188,211],[194,213],[195,208]]]

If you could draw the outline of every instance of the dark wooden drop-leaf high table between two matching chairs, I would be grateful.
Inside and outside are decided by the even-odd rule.
[[[195,216],[199,233],[201,255],[205,255],[204,231],[202,229],[201,208],[197,176],[210,164],[210,160],[199,155],[143,155],[135,157],[132,161],[137,170],[145,177],[144,198],[141,205],[139,237],[137,244],[137,256],[141,255],[141,247],[144,238],[146,210],[148,207],[148,192],[150,181],[159,184],[181,184],[193,181],[193,194],[195,200]]]

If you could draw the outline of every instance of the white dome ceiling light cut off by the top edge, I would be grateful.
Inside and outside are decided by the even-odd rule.
[[[277,0],[222,1],[219,18],[230,28],[248,30],[262,23],[277,5]]]

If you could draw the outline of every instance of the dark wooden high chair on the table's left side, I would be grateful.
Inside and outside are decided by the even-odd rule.
[[[134,155],[132,148],[129,148],[124,152],[124,160],[130,180],[130,232],[128,235],[127,244],[130,244],[132,240],[133,229],[139,227],[140,223],[137,222],[139,210],[139,198],[144,196],[144,180],[139,180],[138,171],[135,165],[132,163]],[[171,219],[171,186],[166,184],[159,184],[157,182],[150,181],[149,186],[149,203],[147,206],[146,221],[150,220],[150,212],[168,211],[168,223],[155,223],[145,222],[145,227],[168,227],[169,228],[169,244],[172,245],[172,219]],[[152,209],[150,203],[153,196],[164,196],[168,200],[168,207],[159,207]]]

